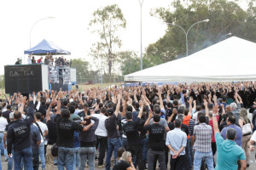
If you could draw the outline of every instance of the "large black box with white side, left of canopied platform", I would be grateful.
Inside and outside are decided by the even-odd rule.
[[[5,65],[5,93],[32,94],[49,90],[48,65]]]

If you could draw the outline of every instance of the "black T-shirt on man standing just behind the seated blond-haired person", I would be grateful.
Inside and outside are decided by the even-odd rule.
[[[127,145],[137,145],[140,143],[139,141],[139,133],[138,133],[138,125],[140,122],[140,118],[137,117],[137,119],[132,122],[128,121],[124,124],[123,130],[127,137]]]

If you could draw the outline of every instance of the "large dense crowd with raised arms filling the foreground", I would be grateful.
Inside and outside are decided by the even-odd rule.
[[[255,82],[60,89],[1,102],[8,169],[93,170],[96,159],[106,170],[246,169],[256,142]]]

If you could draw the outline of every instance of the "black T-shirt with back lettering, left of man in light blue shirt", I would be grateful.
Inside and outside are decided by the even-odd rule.
[[[145,126],[148,130],[148,148],[151,150],[163,151],[165,148],[164,135],[166,128],[159,123],[153,123],[152,125]]]

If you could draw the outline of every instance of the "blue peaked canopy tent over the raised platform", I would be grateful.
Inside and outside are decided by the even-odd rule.
[[[38,43],[38,45],[36,45],[35,47],[24,51],[24,54],[32,53],[33,55],[46,55],[47,53],[54,55],[71,54],[69,51],[63,50],[56,46],[54,42],[48,42],[45,39],[42,42]]]

